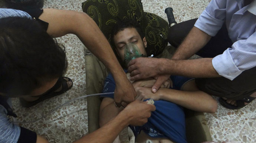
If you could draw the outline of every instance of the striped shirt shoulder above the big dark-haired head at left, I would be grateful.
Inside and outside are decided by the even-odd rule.
[[[8,9],[8,8],[0,8],[0,18],[4,18],[4,17],[27,17],[32,19],[32,17],[24,11]]]

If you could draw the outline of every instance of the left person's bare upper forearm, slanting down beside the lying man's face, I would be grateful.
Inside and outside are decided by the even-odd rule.
[[[96,23],[85,13],[81,13],[79,24],[76,25],[74,33],[99,60],[112,73],[115,81],[120,78],[126,79],[116,56],[104,34]],[[82,18],[83,17],[83,18]],[[127,80],[128,81],[128,80]]]

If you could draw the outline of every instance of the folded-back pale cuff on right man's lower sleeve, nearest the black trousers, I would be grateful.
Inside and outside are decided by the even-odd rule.
[[[234,64],[229,50],[231,50],[231,48],[226,49],[223,54],[214,57],[211,62],[214,69],[217,71],[217,73],[219,73],[220,76],[233,80],[239,74],[241,74],[243,70],[239,70]]]

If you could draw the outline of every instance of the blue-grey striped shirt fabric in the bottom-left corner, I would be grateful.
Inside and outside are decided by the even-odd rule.
[[[6,109],[0,105],[0,143],[17,143],[20,127],[9,121]]]

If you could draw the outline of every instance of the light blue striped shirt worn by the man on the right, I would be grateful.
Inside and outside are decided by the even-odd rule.
[[[256,0],[247,6],[244,1],[211,0],[194,25],[215,36],[226,22],[233,45],[214,57],[212,64],[219,75],[230,80],[256,66]]]

